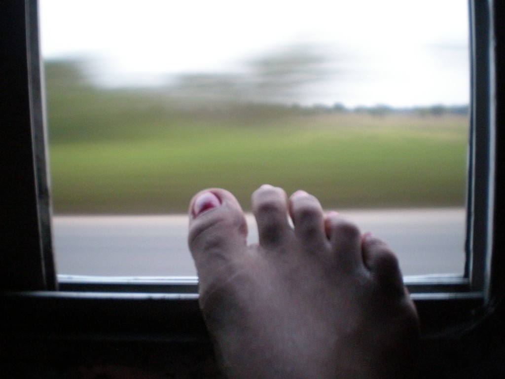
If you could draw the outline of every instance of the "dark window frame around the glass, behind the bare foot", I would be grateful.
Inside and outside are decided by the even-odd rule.
[[[0,118],[9,143],[0,152],[4,234],[0,244],[0,330],[100,338],[168,339],[208,343],[198,309],[196,278],[117,278],[56,275],[36,0],[0,3]],[[498,167],[494,2],[470,0],[471,121],[467,263],[463,276],[406,277],[425,333],[467,325],[499,291],[493,255],[497,233]],[[16,130],[14,135],[8,134]],[[20,178],[21,176],[21,178]],[[499,213],[499,212],[498,212]],[[495,252],[496,253],[496,252]],[[82,321],[82,322],[80,322]],[[85,322],[84,322],[85,321]],[[463,327],[463,326],[462,326]]]

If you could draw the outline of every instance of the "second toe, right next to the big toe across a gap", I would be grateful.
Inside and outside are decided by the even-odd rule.
[[[258,224],[260,246],[277,247],[285,243],[290,231],[287,197],[282,188],[264,184],[252,194],[252,213]]]

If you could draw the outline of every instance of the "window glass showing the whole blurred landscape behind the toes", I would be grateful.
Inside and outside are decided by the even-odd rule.
[[[40,0],[58,272],[195,275],[192,195],[270,183],[462,274],[467,7]]]

